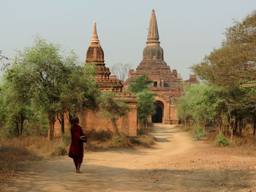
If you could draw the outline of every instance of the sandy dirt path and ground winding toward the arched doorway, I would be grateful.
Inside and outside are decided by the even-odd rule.
[[[86,153],[31,165],[0,191],[256,191],[256,158],[195,142],[175,126],[154,126],[153,147]]]

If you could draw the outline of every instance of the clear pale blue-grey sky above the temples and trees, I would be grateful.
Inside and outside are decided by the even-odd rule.
[[[95,20],[106,66],[128,63],[135,69],[152,9],[165,61],[187,79],[189,66],[219,47],[225,28],[255,10],[256,0],[0,0],[0,49],[13,58],[39,34],[85,61]]]

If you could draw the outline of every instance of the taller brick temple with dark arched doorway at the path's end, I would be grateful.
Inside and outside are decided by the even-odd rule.
[[[171,71],[170,66],[164,61],[164,51],[160,47],[154,9],[148,26],[148,40],[143,50],[143,60],[136,71],[134,69],[129,71],[129,78],[124,84],[124,89],[127,89],[132,80],[138,78],[141,74],[147,74],[153,80],[149,88],[152,93],[157,94],[154,102],[157,113],[151,117],[152,123],[178,124],[175,101],[183,94],[182,79],[176,69]],[[195,76],[193,76],[192,80],[197,82]],[[187,80],[187,82],[192,81]]]

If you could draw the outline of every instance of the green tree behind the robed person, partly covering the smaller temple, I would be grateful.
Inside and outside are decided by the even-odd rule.
[[[72,58],[69,58],[72,60]],[[74,63],[74,61],[72,61]],[[57,116],[61,123],[61,132],[64,133],[64,114],[68,113],[69,123],[72,116],[85,110],[99,108],[99,88],[94,80],[96,69],[94,64],[72,66],[72,73],[61,93],[61,108]]]

